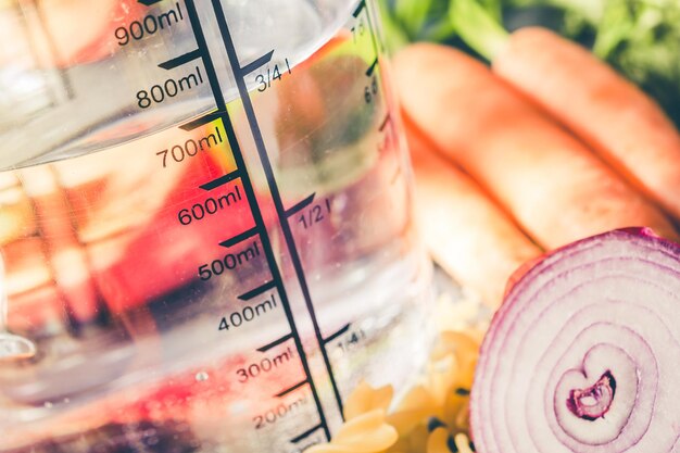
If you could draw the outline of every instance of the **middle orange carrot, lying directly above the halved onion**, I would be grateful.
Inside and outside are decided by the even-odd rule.
[[[402,51],[394,75],[406,114],[540,244],[668,219],[482,63],[451,48]]]

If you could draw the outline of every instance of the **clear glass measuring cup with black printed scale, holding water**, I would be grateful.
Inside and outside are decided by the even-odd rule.
[[[327,439],[429,344],[373,2],[93,3],[0,3],[0,451]]]

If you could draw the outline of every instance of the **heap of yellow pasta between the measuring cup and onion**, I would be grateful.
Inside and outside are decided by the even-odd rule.
[[[463,310],[474,316],[469,306]],[[441,331],[419,383],[389,413],[392,388],[361,382],[345,402],[347,421],[331,442],[307,452],[474,453],[468,403],[482,329]]]

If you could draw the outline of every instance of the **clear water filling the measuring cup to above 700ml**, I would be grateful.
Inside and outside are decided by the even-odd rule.
[[[7,327],[36,348],[0,361],[0,451],[301,451],[322,415],[340,421],[333,386],[415,375],[429,265],[357,11],[304,62],[252,74],[273,174],[243,99],[190,131],[0,173]]]

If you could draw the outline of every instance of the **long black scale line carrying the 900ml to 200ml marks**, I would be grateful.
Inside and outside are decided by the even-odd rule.
[[[219,1],[219,0],[217,0]],[[267,232],[266,229],[266,224],[264,222],[264,217],[262,215],[262,211],[260,210],[260,205],[257,204],[257,199],[255,197],[255,191],[253,189],[253,185],[250,180],[250,175],[248,174],[247,171],[247,166],[245,166],[245,160],[243,159],[243,154],[241,152],[241,148],[239,146],[238,139],[236,137],[236,131],[234,130],[234,125],[231,124],[231,118],[229,117],[229,114],[227,112],[227,106],[226,106],[226,102],[224,99],[224,95],[222,93],[222,89],[219,87],[219,81],[217,78],[217,73],[215,71],[215,66],[213,64],[212,58],[210,55],[210,51],[207,48],[207,42],[205,41],[205,36],[203,34],[203,28],[201,27],[201,23],[198,16],[198,12],[196,9],[196,4],[193,2],[193,0],[185,0],[185,5],[187,7],[187,12],[189,15],[189,21],[191,24],[191,28],[193,29],[193,34],[196,36],[196,40],[197,40],[197,45],[199,50],[201,51],[201,56],[203,60],[203,64],[205,66],[205,72],[207,74],[207,78],[210,81],[210,86],[211,89],[213,91],[213,96],[215,98],[215,103],[217,106],[217,111],[213,112],[206,116],[209,117],[213,117],[215,119],[219,118],[222,119],[222,124],[227,133],[227,140],[229,142],[229,146],[231,148],[231,153],[234,155],[234,160],[236,162],[236,166],[237,168],[241,169],[241,183],[243,185],[243,191],[245,192],[245,198],[248,199],[248,203],[250,205],[251,212],[252,212],[252,216],[253,219],[255,222],[255,228],[253,228],[253,230],[247,231],[247,234],[250,234],[251,231],[254,231],[256,234],[260,235],[260,240],[262,241],[262,248],[264,251],[264,254],[266,256],[267,260],[267,264],[269,267],[269,272],[272,273],[272,279],[276,285],[276,288],[278,290],[279,297],[281,299],[281,305],[284,306],[284,312],[286,314],[286,318],[288,320],[291,334],[290,334],[290,338],[292,338],[293,342],[295,343],[295,349],[298,350],[298,356],[300,357],[300,362],[302,364],[303,370],[304,370],[304,375],[306,377],[306,383],[308,383],[310,386],[310,390],[312,392],[312,397],[314,399],[314,403],[316,405],[317,408],[317,413],[319,416],[319,427],[323,428],[324,430],[324,435],[326,436],[326,438],[328,440],[330,440],[330,429],[328,428],[328,421],[326,420],[326,414],[324,413],[324,407],[322,406],[322,402],[320,399],[318,397],[318,391],[316,389],[316,386],[314,383],[314,380],[312,379],[312,372],[310,369],[310,364],[307,362],[307,357],[306,354],[304,352],[304,349],[302,347],[302,339],[300,338],[300,335],[298,332],[298,327],[295,325],[295,320],[293,318],[293,314],[292,314],[292,310],[290,306],[290,301],[288,299],[288,293],[286,291],[286,288],[284,286],[284,279],[280,273],[280,269],[278,267],[278,264],[276,262],[276,256],[274,255],[274,248],[272,247],[272,242],[269,240],[269,235]],[[236,79],[237,79],[237,84],[240,83],[243,84],[242,78],[238,77],[238,73],[236,72],[238,66],[238,61],[236,61],[237,64],[234,64],[232,58],[236,56],[235,53],[235,49],[234,49],[234,45],[230,41],[230,36],[228,34],[228,29],[227,29],[227,24],[226,24],[226,20],[224,16],[224,12],[222,11],[222,5],[218,4],[218,9],[215,8],[215,2],[213,2],[213,8],[215,10],[215,15],[217,16],[217,22],[219,24],[219,27],[222,29],[223,33],[223,39],[225,37],[225,32],[226,35],[229,37],[229,42],[231,45],[231,53],[229,54],[229,61],[232,65],[232,68],[235,71],[235,75],[237,75]],[[225,42],[226,45],[226,42]],[[228,50],[228,49],[227,49]],[[266,58],[267,55],[265,55]],[[269,55],[270,58],[270,55]],[[240,67],[239,67],[239,72],[240,72]],[[244,85],[244,84],[243,84]],[[239,90],[240,90],[240,86],[239,86]],[[250,100],[250,98],[248,98]],[[252,105],[251,105],[252,109]],[[194,124],[198,124],[201,121],[201,118],[199,118],[198,121],[193,122]],[[204,124],[204,123],[203,123]],[[186,125],[185,125],[186,126]],[[270,168],[269,168],[270,171]],[[267,175],[267,178],[269,177],[269,175]],[[234,240],[234,239],[232,239]],[[229,241],[225,241],[227,242],[227,244],[230,244],[232,240]],[[223,244],[225,244],[223,242]],[[285,337],[284,337],[285,338]],[[318,428],[317,428],[318,429]]]

